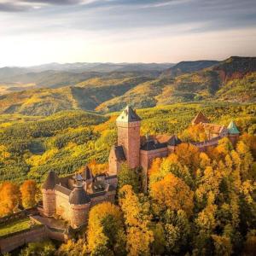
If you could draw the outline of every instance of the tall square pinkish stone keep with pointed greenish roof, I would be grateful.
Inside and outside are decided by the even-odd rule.
[[[127,164],[130,168],[137,168],[140,166],[141,118],[130,106],[127,106],[116,119],[116,124],[118,145],[124,148]]]

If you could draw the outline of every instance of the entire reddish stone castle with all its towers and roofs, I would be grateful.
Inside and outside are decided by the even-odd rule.
[[[141,121],[130,106],[116,119],[118,143],[111,148],[106,174],[94,177],[88,166],[84,167],[82,173],[67,177],[58,177],[55,172],[49,172],[42,189],[44,216],[59,215],[73,228],[85,224],[90,207],[102,201],[114,201],[117,173],[122,163],[126,162],[131,169],[142,168],[144,177],[147,177],[152,160],[175,152],[177,145],[182,143],[176,135],[141,137]],[[206,142],[192,143],[201,151],[218,145],[218,140],[222,137],[230,138],[233,144],[239,137],[233,121],[228,127],[211,124],[200,112],[192,120],[192,125],[198,124],[203,125],[208,135]],[[147,182],[145,186],[147,187]]]

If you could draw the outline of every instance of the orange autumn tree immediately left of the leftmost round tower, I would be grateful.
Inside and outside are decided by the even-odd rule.
[[[21,202],[24,208],[31,208],[36,205],[38,193],[37,183],[33,180],[26,180],[20,186]]]

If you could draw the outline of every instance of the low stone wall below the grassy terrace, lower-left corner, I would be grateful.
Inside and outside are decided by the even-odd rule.
[[[44,225],[38,225],[30,230],[23,230],[9,236],[0,237],[0,251],[1,253],[9,253],[28,242],[43,241],[47,237]]]

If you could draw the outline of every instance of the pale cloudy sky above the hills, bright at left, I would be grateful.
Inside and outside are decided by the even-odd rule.
[[[256,55],[255,0],[0,0],[0,67]]]

